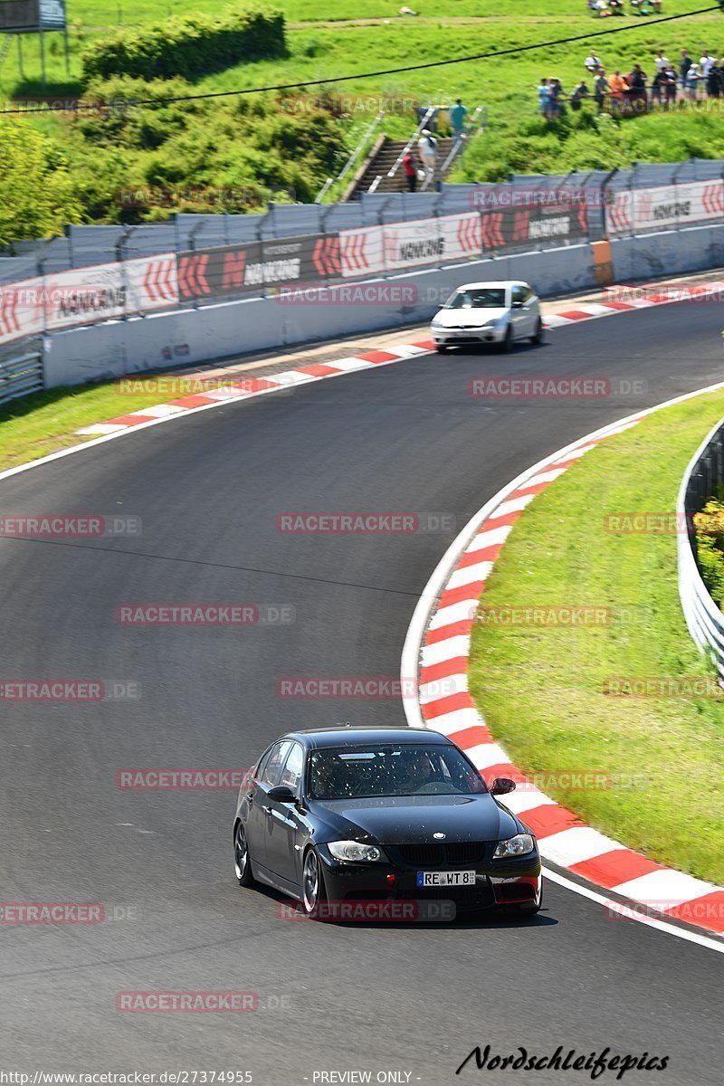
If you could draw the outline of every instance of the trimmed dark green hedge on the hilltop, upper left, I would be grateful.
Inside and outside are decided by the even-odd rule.
[[[240,62],[284,56],[284,16],[229,9],[221,17],[186,15],[116,30],[81,52],[84,85],[111,76],[169,79],[207,75]]]

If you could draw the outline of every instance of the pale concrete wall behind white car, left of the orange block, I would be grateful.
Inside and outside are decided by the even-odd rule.
[[[329,287],[315,304],[277,295],[53,332],[45,339],[46,386],[404,327],[432,317],[460,283],[487,279],[525,279],[543,298],[584,290],[594,286],[593,250],[570,245]],[[357,287],[370,288],[371,301],[355,301]]]

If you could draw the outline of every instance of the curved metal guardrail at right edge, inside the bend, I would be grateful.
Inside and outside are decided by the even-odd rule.
[[[689,633],[724,682],[724,614],[709,594],[697,563],[694,515],[724,482],[724,420],[691,457],[676,503],[678,595]]]

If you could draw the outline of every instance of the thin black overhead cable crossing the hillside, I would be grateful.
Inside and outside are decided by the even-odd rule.
[[[510,49],[495,49],[488,53],[473,53],[469,56],[453,56],[445,61],[427,61],[423,64],[407,64],[404,67],[398,68],[381,68],[378,72],[359,72],[354,75],[330,76],[329,79],[307,79],[303,83],[278,83],[270,84],[266,87],[247,87],[243,90],[209,90],[202,94],[173,94],[167,98],[114,99],[113,102],[104,104],[107,104],[109,108],[112,106],[114,109],[123,110],[135,105],[157,106],[168,105],[173,102],[200,102],[212,98],[236,98],[242,94],[262,94],[271,90],[302,90],[304,87],[322,87],[330,83],[338,84],[350,83],[351,80],[357,79],[374,79],[382,75],[402,75],[405,72],[421,72],[423,68],[445,67],[448,64],[469,64],[471,61],[494,60],[497,56],[510,56],[515,53],[526,53],[535,49],[548,49],[551,46],[566,46],[573,41],[587,41],[589,38],[602,38],[612,34],[625,34],[626,30],[640,30],[643,27],[646,27],[648,30],[652,26],[660,26],[662,23],[674,23],[679,18],[690,18],[694,15],[706,15],[710,11],[724,12],[724,0],[719,0],[719,4],[713,8],[700,8],[698,11],[688,11],[679,15],[665,15],[662,18],[647,18],[645,23],[636,22],[628,23],[626,26],[611,26],[606,30],[590,30],[587,34],[573,35],[570,38],[555,38],[551,41],[537,41],[532,46],[513,46]],[[98,103],[78,102],[77,104],[69,106],[67,110],[58,110],[56,112],[76,113],[86,110],[98,110]],[[31,116],[34,113],[47,114],[48,110],[42,108],[38,108],[37,110],[0,110],[0,116],[10,116],[12,114]]]

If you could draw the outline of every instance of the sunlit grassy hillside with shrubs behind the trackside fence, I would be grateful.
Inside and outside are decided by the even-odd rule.
[[[281,60],[240,63],[200,77],[193,84],[174,80],[175,92],[244,89],[280,83],[335,79],[374,68],[425,63],[468,54],[536,45],[577,34],[627,27],[598,39],[539,48],[503,56],[432,67],[397,76],[330,84],[330,93],[358,96],[350,116],[313,115],[307,110],[284,114],[278,94],[253,94],[213,104],[136,111],[123,124],[80,122],[43,116],[17,122],[46,140],[52,162],[77,185],[67,215],[74,219],[115,222],[127,218],[113,193],[118,185],[257,185],[262,192],[292,188],[296,198],[314,199],[325,178],[344,161],[358,134],[377,112],[376,96],[406,96],[422,103],[448,103],[461,97],[469,106],[483,103],[487,128],[470,149],[458,177],[495,180],[509,171],[558,172],[572,168],[626,166],[633,161],[681,160],[689,154],[724,157],[724,122],[717,114],[646,116],[597,122],[590,106],[570,113],[552,127],[536,112],[535,87],[543,75],[557,75],[570,89],[585,75],[583,60],[595,46],[609,71],[627,71],[640,61],[652,72],[659,47],[675,60],[682,47],[693,55],[709,49],[724,54],[724,17],[719,11],[653,25],[651,18],[593,18],[585,0],[429,0],[410,2],[418,17],[397,15],[394,0],[340,0],[330,13],[327,0],[277,0],[288,20],[289,55]],[[81,91],[80,51],[85,43],[122,24],[142,25],[170,14],[220,13],[215,0],[68,0],[71,72],[65,72],[61,35],[47,38],[49,96]],[[697,11],[696,0],[666,0],[664,15]],[[37,41],[25,38],[25,78],[15,50],[0,70],[2,97],[23,99],[42,93]],[[91,88],[110,97],[107,87]],[[163,93],[163,85],[131,88],[134,97]],[[308,88],[314,91],[315,86]],[[115,97],[130,89],[114,80]],[[10,104],[8,102],[8,104]],[[287,106],[289,111],[289,105]],[[142,114],[142,115],[141,115]],[[3,121],[8,126],[10,118]],[[388,131],[404,136],[410,115],[388,118]],[[1,146],[1,141],[0,141]],[[2,151],[0,151],[1,160]],[[0,166],[2,165],[0,161]],[[59,211],[62,218],[63,210]],[[164,214],[154,212],[153,215]],[[56,228],[56,224],[49,229]]]

